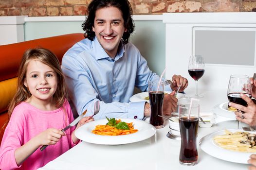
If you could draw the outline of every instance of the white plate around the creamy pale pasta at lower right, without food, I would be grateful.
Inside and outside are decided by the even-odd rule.
[[[231,132],[243,132],[242,129],[229,129]],[[250,133],[256,133],[256,132],[250,132]],[[235,163],[240,163],[240,164],[248,164],[247,160],[249,159],[249,156],[252,153],[242,153],[242,152],[236,152],[236,151],[229,151],[226,149],[223,149],[219,147],[213,140],[214,136],[217,135],[224,135],[225,132],[224,130],[220,130],[214,133],[211,133],[209,135],[206,135],[200,139],[200,147],[201,149],[216,158],[229,161],[229,162],[235,162]]]

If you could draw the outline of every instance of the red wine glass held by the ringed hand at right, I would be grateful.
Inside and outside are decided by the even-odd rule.
[[[231,75],[228,84],[228,101],[247,106],[247,102],[240,97],[241,93],[247,95],[249,98],[252,98],[252,86],[249,76]],[[240,121],[238,121],[238,129],[239,128]]]

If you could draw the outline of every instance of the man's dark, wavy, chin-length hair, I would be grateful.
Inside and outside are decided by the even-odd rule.
[[[87,9],[87,18],[82,24],[83,30],[85,31],[84,36],[91,41],[94,40],[95,32],[92,31],[92,27],[94,26],[96,10],[110,6],[116,7],[122,12],[124,27],[127,29],[127,32],[124,32],[121,41],[123,44],[127,44],[130,34],[134,31],[134,22],[131,18],[132,8],[128,0],[92,0]]]

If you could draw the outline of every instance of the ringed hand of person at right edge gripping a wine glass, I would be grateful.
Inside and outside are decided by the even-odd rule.
[[[247,102],[247,107],[233,102],[229,102],[228,105],[244,112],[244,119],[241,118],[242,112],[235,112],[237,120],[244,122],[250,126],[256,125],[256,104],[248,96],[244,94],[240,94],[240,96],[245,102]]]

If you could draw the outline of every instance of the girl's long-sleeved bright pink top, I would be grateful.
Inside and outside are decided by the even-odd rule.
[[[66,109],[66,113],[63,110]],[[65,131],[66,136],[55,145],[49,145],[44,151],[39,148],[30,155],[20,166],[17,165],[14,152],[27,143],[32,137],[49,128],[63,129],[73,121],[73,114],[69,102],[66,100],[63,107],[53,111],[42,111],[26,102],[18,104],[4,131],[0,146],[1,170],[37,170],[49,161],[65,153],[75,144],[71,134],[75,126]]]

